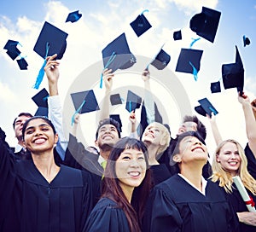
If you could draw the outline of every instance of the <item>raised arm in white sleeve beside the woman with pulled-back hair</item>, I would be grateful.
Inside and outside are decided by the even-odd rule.
[[[61,99],[58,92],[58,80],[60,77],[59,73],[59,61],[55,61],[57,55],[52,55],[47,58],[46,66],[44,67],[44,72],[48,78],[49,86],[49,119],[52,121],[55,126],[55,130],[59,135],[59,141],[56,146],[58,154],[61,156],[61,159],[64,160],[65,152],[67,149],[67,139],[63,131],[62,125],[62,107]]]

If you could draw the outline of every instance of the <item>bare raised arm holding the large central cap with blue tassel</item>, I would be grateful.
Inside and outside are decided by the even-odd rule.
[[[109,107],[110,107],[110,94],[113,86],[113,73],[112,69],[104,69],[103,71],[103,81],[105,84],[105,96],[103,97],[101,110],[100,110],[100,120],[109,118]]]

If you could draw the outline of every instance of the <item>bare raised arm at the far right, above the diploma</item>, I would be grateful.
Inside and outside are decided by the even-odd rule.
[[[238,102],[241,103],[244,113],[248,145],[256,158],[256,121],[253,114],[253,106],[248,96],[244,94],[242,96],[238,95]]]

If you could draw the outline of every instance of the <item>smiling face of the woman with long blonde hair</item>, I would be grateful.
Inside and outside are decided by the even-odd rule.
[[[219,150],[216,161],[220,163],[225,171],[230,172],[235,177],[241,165],[241,156],[234,142],[227,142]]]

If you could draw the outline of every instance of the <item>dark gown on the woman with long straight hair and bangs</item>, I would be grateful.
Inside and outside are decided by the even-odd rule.
[[[125,212],[108,198],[98,201],[87,219],[83,232],[131,232]]]

